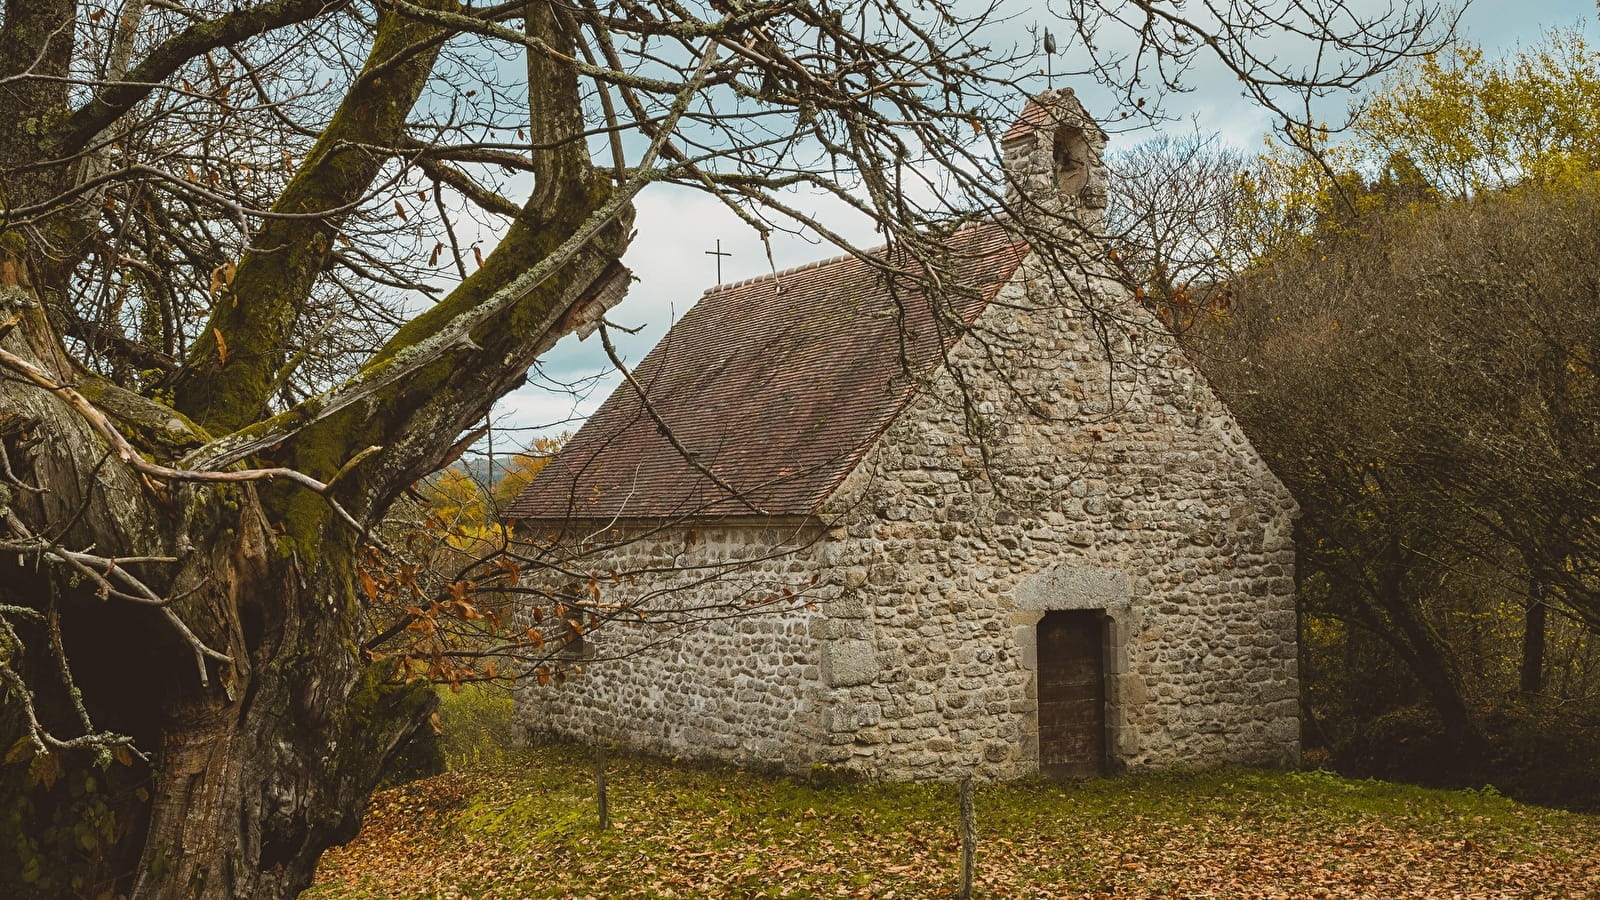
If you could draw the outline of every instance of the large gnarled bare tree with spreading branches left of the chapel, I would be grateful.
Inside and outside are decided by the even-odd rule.
[[[1277,10],[1277,11],[1274,11]],[[10,0],[0,18],[0,847],[13,895],[288,897],[432,695],[358,548],[626,288],[632,200],[707,191],[933,263],[998,205],[997,8],[893,0]],[[1258,98],[1432,46],[1405,5],[1067,3]],[[1330,70],[1278,67],[1274,32]],[[1280,104],[1282,106],[1282,104]],[[1008,112],[1010,110],[1010,112]],[[507,197],[512,176],[531,176]],[[483,253],[480,234],[498,234]],[[885,256],[886,258],[886,256]],[[931,271],[931,266],[930,266]]]

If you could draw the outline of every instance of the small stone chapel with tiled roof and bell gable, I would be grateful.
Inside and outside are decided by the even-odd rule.
[[[949,237],[939,303],[854,256],[706,291],[510,509],[525,580],[587,607],[566,677],[518,689],[530,740],[882,778],[1298,761],[1296,506],[1107,267],[1104,146],[1034,98],[1011,218]]]

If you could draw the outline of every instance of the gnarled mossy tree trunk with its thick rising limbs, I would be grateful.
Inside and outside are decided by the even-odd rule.
[[[328,3],[264,6],[304,19]],[[11,3],[0,75],[21,59],[64,75],[53,42],[70,43],[58,26],[75,14],[70,0]],[[402,143],[446,34],[379,16],[366,74],[285,210],[366,194],[384,159],[370,147]],[[536,114],[578,109],[570,69],[533,70],[549,78]],[[70,186],[74,167],[27,160],[86,141],[74,146],[82,122],[66,115],[64,82],[18,83],[0,83],[0,101],[48,115],[0,130],[10,208]],[[539,191],[472,277],[357,376],[274,418],[286,336],[336,215],[270,219],[176,391],[155,397],[64,352],[59,307],[82,237],[70,203],[27,227],[0,223],[0,607],[21,623],[0,633],[0,895],[293,897],[354,836],[386,757],[434,705],[427,685],[360,650],[360,532],[622,277],[630,207],[571,127],[552,114]]]

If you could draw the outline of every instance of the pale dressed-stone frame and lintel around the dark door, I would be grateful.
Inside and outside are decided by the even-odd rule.
[[[1130,677],[1133,634],[1133,583],[1126,572],[1086,565],[1054,565],[1016,588],[1011,613],[1013,641],[1021,666],[1029,673],[1027,698],[1032,701],[1027,729],[1027,756],[1037,769],[1038,748],[1038,623],[1053,610],[1093,610],[1104,618],[1106,769],[1115,772],[1138,753],[1138,735],[1123,703],[1123,682]]]

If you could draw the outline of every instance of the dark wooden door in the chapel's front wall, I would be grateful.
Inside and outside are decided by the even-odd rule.
[[[1046,612],[1038,623],[1038,770],[1099,775],[1106,761],[1104,617]]]

